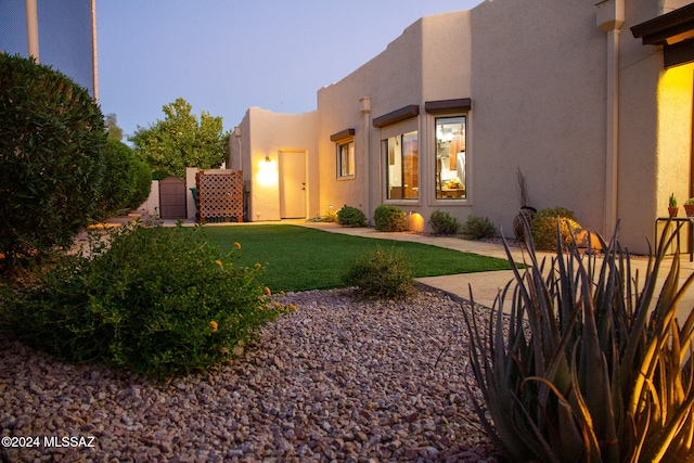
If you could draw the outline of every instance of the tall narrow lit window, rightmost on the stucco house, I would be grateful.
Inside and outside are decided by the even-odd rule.
[[[467,196],[465,182],[465,116],[436,118],[436,197]]]

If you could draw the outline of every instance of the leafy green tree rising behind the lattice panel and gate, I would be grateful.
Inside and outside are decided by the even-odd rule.
[[[185,177],[187,167],[209,169],[224,159],[227,136],[221,117],[202,112],[200,120],[182,98],[163,107],[165,118],[149,128],[138,127],[130,141],[158,178]]]

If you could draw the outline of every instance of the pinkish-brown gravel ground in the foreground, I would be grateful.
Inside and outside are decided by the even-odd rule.
[[[464,385],[463,306],[428,291],[407,304],[355,301],[349,290],[285,301],[297,310],[232,364],[168,384],[0,336],[1,435],[35,446],[2,446],[0,458],[498,461]]]

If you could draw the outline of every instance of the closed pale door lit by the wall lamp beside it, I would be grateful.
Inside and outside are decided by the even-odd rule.
[[[283,219],[306,218],[306,152],[281,151],[280,168],[280,217]]]

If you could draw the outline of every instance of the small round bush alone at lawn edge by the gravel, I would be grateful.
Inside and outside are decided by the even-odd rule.
[[[381,247],[352,261],[343,280],[369,299],[401,300],[414,290],[412,267],[402,253]]]

